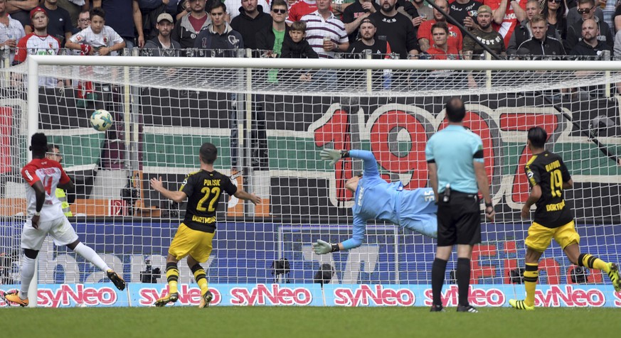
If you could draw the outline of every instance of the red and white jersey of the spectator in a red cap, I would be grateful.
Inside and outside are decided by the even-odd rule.
[[[17,43],[14,63],[18,64],[26,61],[28,55],[56,55],[60,49],[60,41],[51,35],[38,36],[30,33],[24,36]],[[56,87],[55,77],[39,77],[39,86],[53,88]]]

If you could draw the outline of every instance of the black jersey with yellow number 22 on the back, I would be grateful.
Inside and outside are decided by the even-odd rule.
[[[199,170],[186,177],[179,191],[188,195],[184,224],[193,230],[213,232],[216,230],[216,209],[222,192],[233,195],[237,187],[228,176],[216,170]]]

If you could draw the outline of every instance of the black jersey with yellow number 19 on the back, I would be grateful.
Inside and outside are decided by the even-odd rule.
[[[534,222],[548,228],[561,227],[573,220],[573,212],[563,199],[563,182],[571,179],[561,156],[549,151],[534,155],[524,167],[531,188],[541,187]]]

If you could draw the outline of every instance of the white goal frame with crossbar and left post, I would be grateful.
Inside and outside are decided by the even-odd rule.
[[[38,131],[39,115],[39,67],[43,65],[58,66],[116,66],[116,67],[191,67],[191,68],[236,68],[236,69],[334,69],[334,70],[465,70],[465,71],[592,71],[621,72],[621,61],[556,61],[556,60],[319,60],[319,59],[272,59],[272,58],[166,58],[166,57],[102,57],[92,56],[83,58],[74,55],[29,55],[28,56],[28,123],[27,139]],[[127,69],[127,68],[126,68]],[[129,84],[126,72],[125,81]],[[248,77],[248,82],[252,81]],[[251,94],[250,83],[247,84],[245,94]],[[370,86],[368,86],[370,88]],[[250,113],[248,113],[250,114]],[[126,121],[129,123],[129,121]],[[250,115],[246,125],[241,125],[240,131],[250,129],[252,119]],[[126,133],[126,140],[135,141],[137,131]],[[243,133],[240,132],[240,135]],[[131,139],[130,139],[131,138]],[[240,146],[243,140],[240,138]],[[28,152],[28,161],[31,153]],[[28,296],[37,299],[37,270]],[[36,301],[31,302],[36,306]]]

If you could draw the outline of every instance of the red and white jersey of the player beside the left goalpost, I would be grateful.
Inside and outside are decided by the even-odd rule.
[[[56,197],[56,187],[58,184],[66,184],[70,181],[69,176],[63,170],[60,163],[46,158],[35,158],[21,169],[21,176],[28,187],[26,187],[26,203],[28,203],[28,218],[36,212],[36,194],[32,187],[36,182],[41,181],[46,190],[46,202],[43,202],[41,209],[41,221],[49,221],[64,217],[63,207],[60,200]]]

